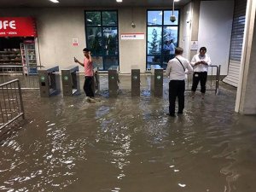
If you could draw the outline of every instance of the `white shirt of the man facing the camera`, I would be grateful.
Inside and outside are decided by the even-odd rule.
[[[207,65],[199,64],[195,66],[195,63],[199,61],[205,61]],[[212,61],[210,59],[210,56],[207,54],[205,54],[204,56],[201,56],[200,54],[196,54],[193,56],[190,64],[192,67],[194,67],[194,72],[207,72],[208,66],[212,65]]]

